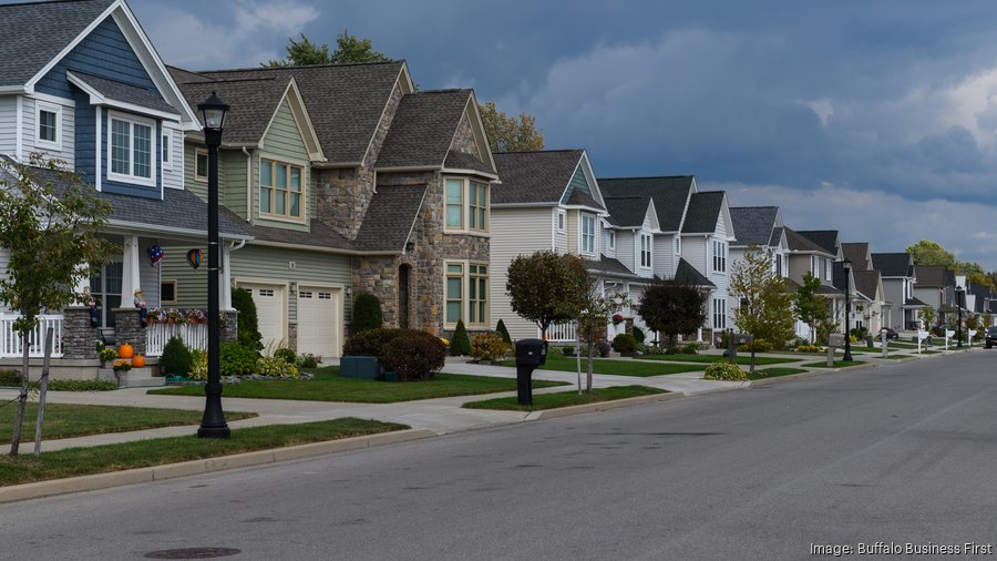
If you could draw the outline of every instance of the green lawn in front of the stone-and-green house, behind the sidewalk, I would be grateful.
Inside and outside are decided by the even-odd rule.
[[[473,396],[514,391],[514,378],[436,374],[426,381],[388,382],[339,376],[338,366],[314,370],[311,380],[250,380],[226,385],[224,397],[255,399],[295,399],[305,401],[349,401],[356,404],[394,404],[438,397]],[[534,380],[534,388],[564,386],[561,381]],[[168,396],[203,396],[204,386],[177,386],[156,389],[150,394]]]

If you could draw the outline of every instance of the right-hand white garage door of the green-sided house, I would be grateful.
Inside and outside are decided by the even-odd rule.
[[[338,289],[302,286],[298,289],[298,354],[338,357],[342,293]]]

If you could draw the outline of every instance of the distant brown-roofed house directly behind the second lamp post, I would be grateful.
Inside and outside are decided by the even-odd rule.
[[[852,328],[865,327],[873,336],[883,328],[883,318],[891,304],[883,292],[880,272],[873,268],[872,254],[865,242],[841,244],[842,256],[852,264]],[[844,288],[841,264],[834,268],[834,286]]]

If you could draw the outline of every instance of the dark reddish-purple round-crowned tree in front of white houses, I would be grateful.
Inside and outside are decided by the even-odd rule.
[[[640,297],[637,307],[648,327],[668,336],[668,346],[678,346],[678,336],[702,327],[706,295],[699,288],[675,279],[656,280]]]

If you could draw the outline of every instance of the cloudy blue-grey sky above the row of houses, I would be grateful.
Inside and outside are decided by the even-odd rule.
[[[423,90],[536,116],[599,176],[695,174],[790,227],[997,269],[997,2],[130,0],[167,63],[343,29]]]

